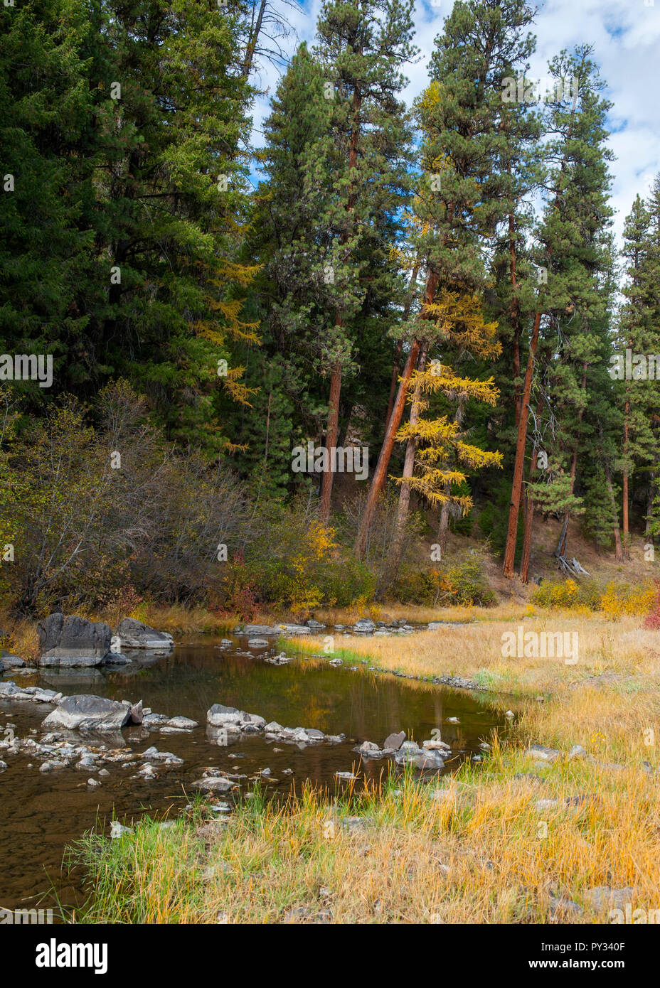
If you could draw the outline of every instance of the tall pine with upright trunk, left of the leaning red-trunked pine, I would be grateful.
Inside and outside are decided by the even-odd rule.
[[[365,304],[377,311],[396,303],[402,289],[388,261],[410,188],[410,133],[397,96],[406,81],[401,67],[415,54],[412,9],[412,0],[326,0],[318,22],[315,52],[336,88],[329,131],[309,149],[306,191],[316,194],[319,267],[335,288],[321,338],[330,374],[329,449],[337,446],[342,381],[354,371],[365,335]],[[324,524],[332,482],[331,469],[322,481]]]

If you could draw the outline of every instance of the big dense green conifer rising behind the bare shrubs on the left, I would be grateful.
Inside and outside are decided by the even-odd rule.
[[[93,50],[97,293],[87,390],[125,374],[172,437],[208,452],[226,442],[213,401],[249,402],[231,341],[257,342],[243,311],[254,267],[245,221],[251,90],[237,71],[242,13],[205,0],[99,0]],[[226,372],[218,362],[226,361]]]

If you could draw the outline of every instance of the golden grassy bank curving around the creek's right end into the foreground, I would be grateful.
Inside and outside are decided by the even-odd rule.
[[[143,820],[121,840],[90,837],[77,850],[90,896],[74,920],[589,923],[616,921],[625,903],[652,916],[658,632],[634,617],[528,617],[351,638],[344,650],[348,661],[480,679],[502,709],[517,697],[506,748],[492,736],[480,763],[431,783],[390,779],[335,798],[298,790],[284,806],[253,795],[222,822],[200,804],[171,828]],[[517,621],[577,630],[577,663],[503,657]]]

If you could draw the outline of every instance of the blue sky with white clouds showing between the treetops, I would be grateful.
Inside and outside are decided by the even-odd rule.
[[[287,8],[296,37],[284,42],[289,54],[297,41],[312,41],[320,0],[305,0],[299,12]],[[454,0],[418,0],[415,5],[416,44],[420,60],[407,68],[407,101],[427,82],[433,42],[451,12]],[[561,48],[588,42],[593,59],[608,84],[604,93],[614,104],[610,113],[610,146],[616,155],[612,204],[617,210],[615,231],[620,237],[625,214],[637,192],[645,196],[660,171],[660,0],[545,0],[536,4],[536,55],[532,77],[544,77],[547,61]],[[265,66],[265,85],[274,92],[275,69]],[[255,142],[263,142],[260,124],[268,114],[268,98],[255,107]]]

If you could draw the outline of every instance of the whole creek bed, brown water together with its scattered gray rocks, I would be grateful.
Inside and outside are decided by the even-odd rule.
[[[5,673],[0,905],[53,884],[63,902],[79,899],[62,849],[97,820],[110,832],[114,816],[176,815],[196,791],[226,792],[230,809],[257,782],[276,798],[307,780],[332,790],[388,764],[432,780],[482,757],[503,723],[467,695],[293,656],[275,634],[249,645],[243,630],[118,668]]]

